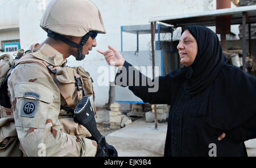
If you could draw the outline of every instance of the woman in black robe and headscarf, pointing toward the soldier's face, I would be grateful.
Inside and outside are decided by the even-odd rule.
[[[164,156],[247,156],[243,141],[256,137],[255,77],[227,63],[210,29],[184,30],[177,46],[184,67],[158,77],[157,92],[141,83],[129,89],[144,102],[171,105]],[[127,73],[128,85],[131,64],[109,49],[98,51],[119,67],[117,76]]]

